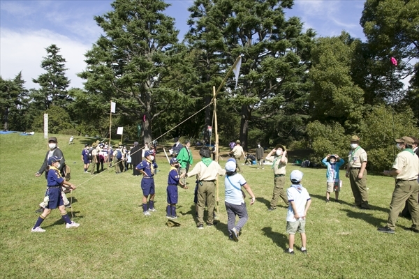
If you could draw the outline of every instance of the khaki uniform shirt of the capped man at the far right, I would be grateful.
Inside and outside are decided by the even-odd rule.
[[[418,179],[419,158],[416,154],[412,154],[409,151],[404,150],[397,154],[395,163],[393,163],[392,168],[400,171],[400,173],[397,174],[396,179]]]

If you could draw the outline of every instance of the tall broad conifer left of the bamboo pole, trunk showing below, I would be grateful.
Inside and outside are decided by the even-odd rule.
[[[112,10],[96,16],[103,35],[85,54],[87,70],[80,74],[85,89],[105,103],[117,103],[118,113],[143,122],[145,142],[152,140],[151,123],[182,97],[185,61],[178,55],[175,22],[163,14],[161,0],[117,0]],[[181,53],[184,53],[180,51]]]

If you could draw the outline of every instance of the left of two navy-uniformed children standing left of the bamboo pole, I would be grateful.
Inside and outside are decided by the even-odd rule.
[[[145,151],[145,159],[142,160],[135,168],[142,173],[141,189],[142,189],[142,213],[145,216],[151,216],[151,212],[156,211],[154,208],[154,197],[156,189],[154,186],[154,174],[156,173],[157,164],[154,162],[152,151]],[[147,199],[148,206],[147,206]]]

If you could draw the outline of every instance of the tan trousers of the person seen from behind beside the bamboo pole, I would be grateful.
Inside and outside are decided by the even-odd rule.
[[[198,225],[204,225],[205,204],[208,206],[207,223],[214,223],[215,181],[200,181],[198,184]]]

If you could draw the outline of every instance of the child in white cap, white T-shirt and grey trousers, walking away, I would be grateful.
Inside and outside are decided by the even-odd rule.
[[[225,195],[225,204],[226,211],[228,216],[228,239],[234,239],[234,241],[239,241],[239,233],[242,227],[247,223],[249,218],[247,215],[246,203],[244,199],[246,196],[242,191],[242,187],[247,190],[251,197],[250,205],[255,203],[255,195],[251,190],[249,184],[242,176],[242,174],[237,174],[236,172],[237,165],[235,159],[231,158],[226,163],[226,178],[224,179],[224,185],[226,188]],[[239,216],[239,221],[235,225],[235,218]]]

